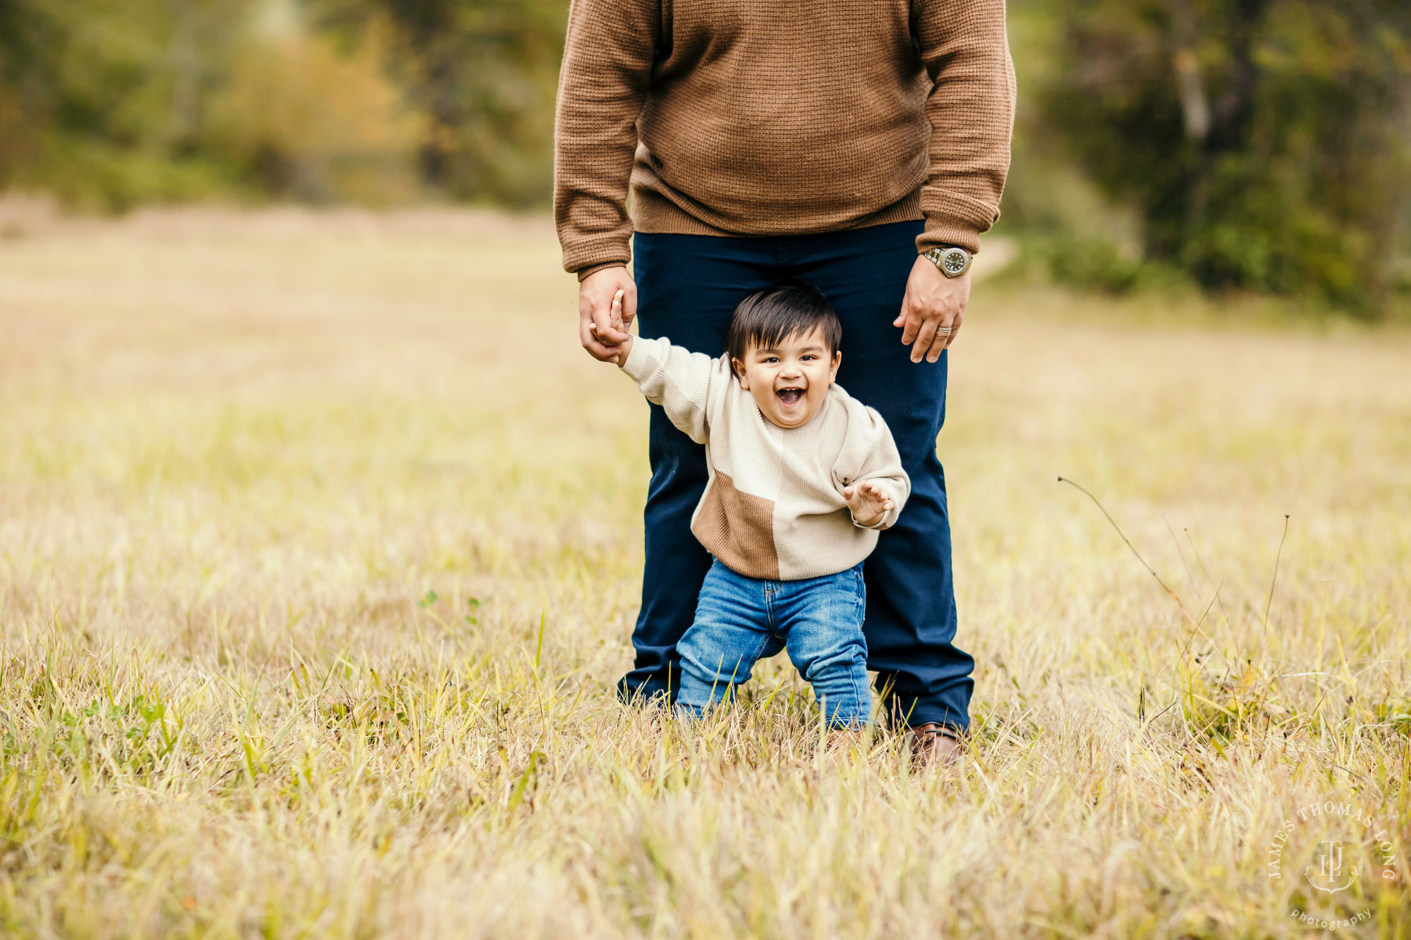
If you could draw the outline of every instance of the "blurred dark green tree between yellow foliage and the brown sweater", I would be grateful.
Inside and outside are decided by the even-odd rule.
[[[412,102],[429,121],[422,169],[461,199],[543,203],[567,0],[310,0],[343,32],[394,27]]]

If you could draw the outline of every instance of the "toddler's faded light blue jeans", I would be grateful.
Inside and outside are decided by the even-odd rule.
[[[701,584],[696,621],[676,644],[677,709],[698,717],[749,679],[761,656],[785,646],[828,725],[861,728],[872,714],[865,605],[862,565],[823,577],[762,582],[715,562]]]

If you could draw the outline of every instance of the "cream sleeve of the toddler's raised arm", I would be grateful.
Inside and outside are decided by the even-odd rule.
[[[711,415],[734,382],[725,357],[687,353],[665,339],[632,339],[622,364],[646,399],[698,445],[710,439]]]

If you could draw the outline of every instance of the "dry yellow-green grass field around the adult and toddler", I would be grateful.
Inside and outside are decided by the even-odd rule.
[[[982,284],[974,741],[914,772],[820,748],[785,658],[703,727],[617,704],[646,405],[545,222],[10,236],[8,936],[1411,936],[1404,330]]]

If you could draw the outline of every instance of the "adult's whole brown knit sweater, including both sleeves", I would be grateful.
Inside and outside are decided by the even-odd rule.
[[[976,251],[999,217],[1013,112],[1003,0],[573,0],[555,133],[563,267],[625,264],[634,229],[923,217],[917,250]]]

